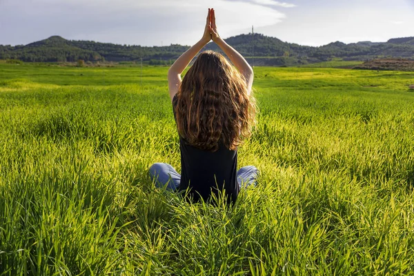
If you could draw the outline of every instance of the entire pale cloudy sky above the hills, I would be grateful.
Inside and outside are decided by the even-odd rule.
[[[414,0],[0,0],[0,44],[52,35],[141,46],[193,45],[214,8],[223,38],[251,32],[322,46],[414,37]]]

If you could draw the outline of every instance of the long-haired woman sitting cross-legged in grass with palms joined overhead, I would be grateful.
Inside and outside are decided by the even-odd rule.
[[[181,73],[212,40],[235,68],[217,52],[202,52],[181,81]],[[215,11],[208,9],[203,37],[184,52],[168,70],[168,88],[179,132],[181,175],[169,164],[150,167],[157,186],[189,190],[193,201],[206,201],[224,190],[235,201],[242,186],[255,183],[257,168],[237,171],[237,146],[250,136],[255,101],[250,97],[253,70],[244,57],[217,32]]]

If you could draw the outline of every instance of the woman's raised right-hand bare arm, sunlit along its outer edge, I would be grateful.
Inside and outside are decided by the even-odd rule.
[[[210,27],[210,33],[211,38],[217,45],[223,50],[223,52],[227,55],[227,57],[230,59],[231,62],[236,66],[237,70],[239,70],[240,73],[244,76],[244,79],[246,79],[246,85],[247,85],[247,91],[248,95],[250,95],[250,90],[253,86],[253,69],[250,67],[250,65],[247,63],[246,59],[242,55],[237,52],[233,47],[228,45],[226,41],[221,39],[219,36],[219,33],[217,32],[217,26],[215,23],[215,10],[212,9],[212,19],[211,19],[211,27]]]

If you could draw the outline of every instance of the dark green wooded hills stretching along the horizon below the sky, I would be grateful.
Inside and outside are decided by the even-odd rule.
[[[389,39],[386,42],[360,41],[343,43],[340,41],[325,46],[300,46],[284,42],[263,34],[239,34],[226,39],[227,43],[244,57],[252,56],[252,41],[255,65],[291,66],[326,61],[333,58],[366,61],[378,57],[414,59],[414,37]],[[22,61],[149,61],[166,63],[177,59],[189,46],[130,46],[95,41],[67,40],[52,36],[48,39],[29,43],[26,46],[0,46],[0,59],[20,59]],[[218,50],[215,43],[208,43],[204,50]]]

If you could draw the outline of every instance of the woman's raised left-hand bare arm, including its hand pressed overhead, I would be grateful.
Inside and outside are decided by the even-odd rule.
[[[206,28],[204,28],[203,37],[195,43],[193,47],[186,50],[168,70],[168,90],[170,91],[170,99],[177,94],[181,84],[181,73],[186,69],[190,61],[197,55],[197,53],[211,40],[210,34],[210,9],[208,9]]]

